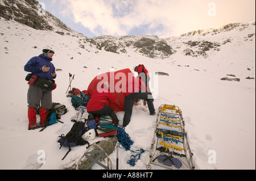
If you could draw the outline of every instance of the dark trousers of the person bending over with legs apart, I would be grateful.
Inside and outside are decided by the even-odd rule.
[[[123,116],[123,127],[126,127],[131,120],[131,113],[133,113],[133,104],[135,99],[147,100],[147,106],[150,113],[155,112],[153,99],[148,99],[147,92],[135,92],[125,96],[125,116]]]

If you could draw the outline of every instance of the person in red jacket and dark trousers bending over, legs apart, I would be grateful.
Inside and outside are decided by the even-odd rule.
[[[147,87],[139,78],[134,78],[126,82],[125,95],[125,115],[123,116],[123,127],[126,127],[131,120],[131,114],[133,113],[133,105],[135,99],[142,99],[147,101],[148,110],[150,115],[155,115],[155,108],[153,99],[148,94]]]

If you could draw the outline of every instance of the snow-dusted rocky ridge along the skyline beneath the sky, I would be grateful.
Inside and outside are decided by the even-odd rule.
[[[209,54],[221,50],[221,46],[232,42],[232,37],[220,41],[209,40],[214,36],[228,31],[243,31],[247,28],[255,28],[255,22],[230,23],[218,28],[197,30],[184,33],[179,37],[159,38],[157,36],[137,35],[114,37],[109,35],[93,38],[77,33],[67,27],[63,22],[44,11],[38,1],[35,0],[5,0],[0,1],[0,18],[15,20],[37,30],[54,31],[60,35],[80,37],[79,47],[85,49],[84,44],[94,46],[98,50],[113,53],[127,53],[127,49],[150,58],[168,58],[177,51],[182,51],[184,56],[208,58]],[[196,40],[187,37],[197,36]],[[255,38],[255,33],[243,37],[243,41]],[[96,51],[97,52],[97,51]]]

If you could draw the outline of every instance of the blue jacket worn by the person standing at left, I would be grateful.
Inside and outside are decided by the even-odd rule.
[[[52,58],[40,54],[38,57],[32,57],[27,64],[24,66],[24,70],[31,72],[32,74],[37,75],[38,77],[53,79],[56,78],[56,75],[52,77],[51,73],[55,71],[55,66],[52,64]],[[42,67],[49,66],[49,71],[43,72]]]

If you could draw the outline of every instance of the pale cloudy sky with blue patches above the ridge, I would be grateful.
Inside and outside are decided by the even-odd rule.
[[[255,21],[255,0],[38,0],[88,37],[180,36],[228,23]]]

